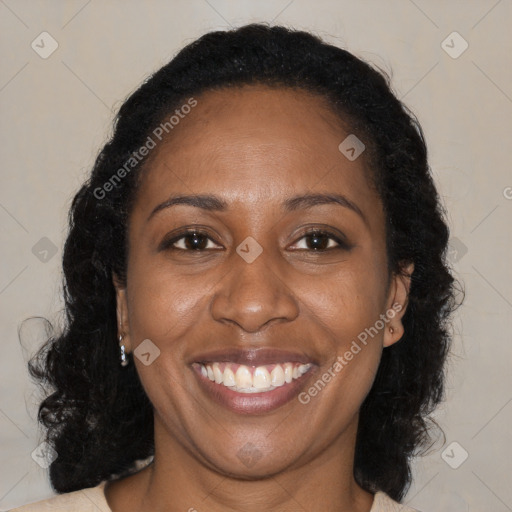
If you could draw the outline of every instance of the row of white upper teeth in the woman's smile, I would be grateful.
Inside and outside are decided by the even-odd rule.
[[[283,363],[245,366],[230,362],[199,364],[201,373],[217,384],[242,393],[272,391],[304,375],[311,364]]]

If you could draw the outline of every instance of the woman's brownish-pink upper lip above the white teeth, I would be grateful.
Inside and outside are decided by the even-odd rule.
[[[303,353],[277,348],[225,348],[198,354],[191,360],[193,363],[213,363],[215,361],[229,361],[246,366],[263,366],[266,364],[287,362],[316,364],[313,358]]]

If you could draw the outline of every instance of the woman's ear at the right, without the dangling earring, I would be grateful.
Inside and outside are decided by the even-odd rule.
[[[411,285],[411,275],[414,271],[414,263],[404,264],[402,272],[394,274],[389,285],[386,317],[389,321],[384,331],[383,345],[389,347],[404,335],[402,318],[405,314]]]

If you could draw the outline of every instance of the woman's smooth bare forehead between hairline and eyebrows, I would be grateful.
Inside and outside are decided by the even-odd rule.
[[[139,208],[170,193],[212,193],[244,205],[329,191],[375,201],[365,158],[350,161],[338,149],[350,127],[324,97],[250,85],[195,99],[150,156]]]

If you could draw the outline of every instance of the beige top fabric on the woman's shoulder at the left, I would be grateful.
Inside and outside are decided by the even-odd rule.
[[[60,510],[62,512],[112,512],[105,499],[106,481],[96,487],[52,496],[46,500],[14,508],[10,512],[44,512]]]

